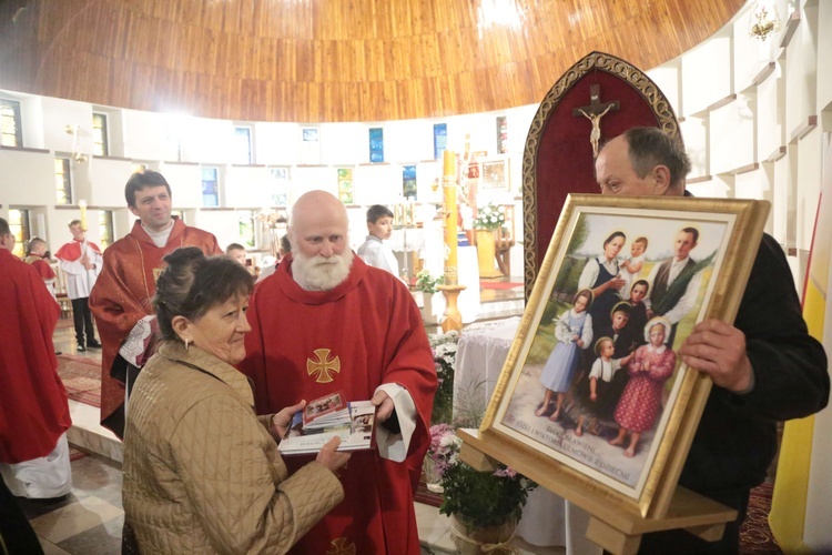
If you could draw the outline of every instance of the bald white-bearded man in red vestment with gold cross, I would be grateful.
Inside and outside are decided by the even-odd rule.
[[[413,492],[429,443],[436,371],[422,316],[393,274],[349,249],[344,205],[312,191],[295,203],[292,254],[257,285],[241,370],[260,414],[344,392],[378,406],[377,450],[341,473],[344,502],[295,553],[418,554]],[[286,457],[294,472],[312,457]]]

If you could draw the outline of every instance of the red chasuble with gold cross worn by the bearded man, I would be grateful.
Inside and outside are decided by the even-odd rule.
[[[429,443],[436,371],[425,327],[407,287],[393,274],[355,258],[347,280],[332,291],[304,291],[284,258],[248,305],[252,332],[241,370],[254,380],[260,414],[343,391],[371,398],[397,383],[417,415],[407,458],[353,453],[337,474],[344,502],[295,546],[294,553],[418,554],[413,492]],[[291,472],[314,460],[285,457]],[[352,551],[351,551],[352,549]]]

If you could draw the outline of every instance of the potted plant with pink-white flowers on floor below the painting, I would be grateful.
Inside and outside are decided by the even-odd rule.
[[[451,517],[457,553],[510,553],[528,493],[537,484],[503,464],[479,472],[459,460],[460,442],[445,424],[430,427],[434,467],[440,475],[439,512]]]

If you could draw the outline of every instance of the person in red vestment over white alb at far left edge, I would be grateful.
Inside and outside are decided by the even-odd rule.
[[[60,497],[72,488],[72,420],[52,345],[61,310],[13,248],[0,218],[0,474],[14,495]]]

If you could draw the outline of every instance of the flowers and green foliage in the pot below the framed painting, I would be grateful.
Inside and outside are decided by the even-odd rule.
[[[444,488],[439,512],[456,515],[468,532],[519,521],[537,484],[503,464],[495,472],[476,471],[459,460],[460,446],[450,426],[430,426],[428,456]]]

